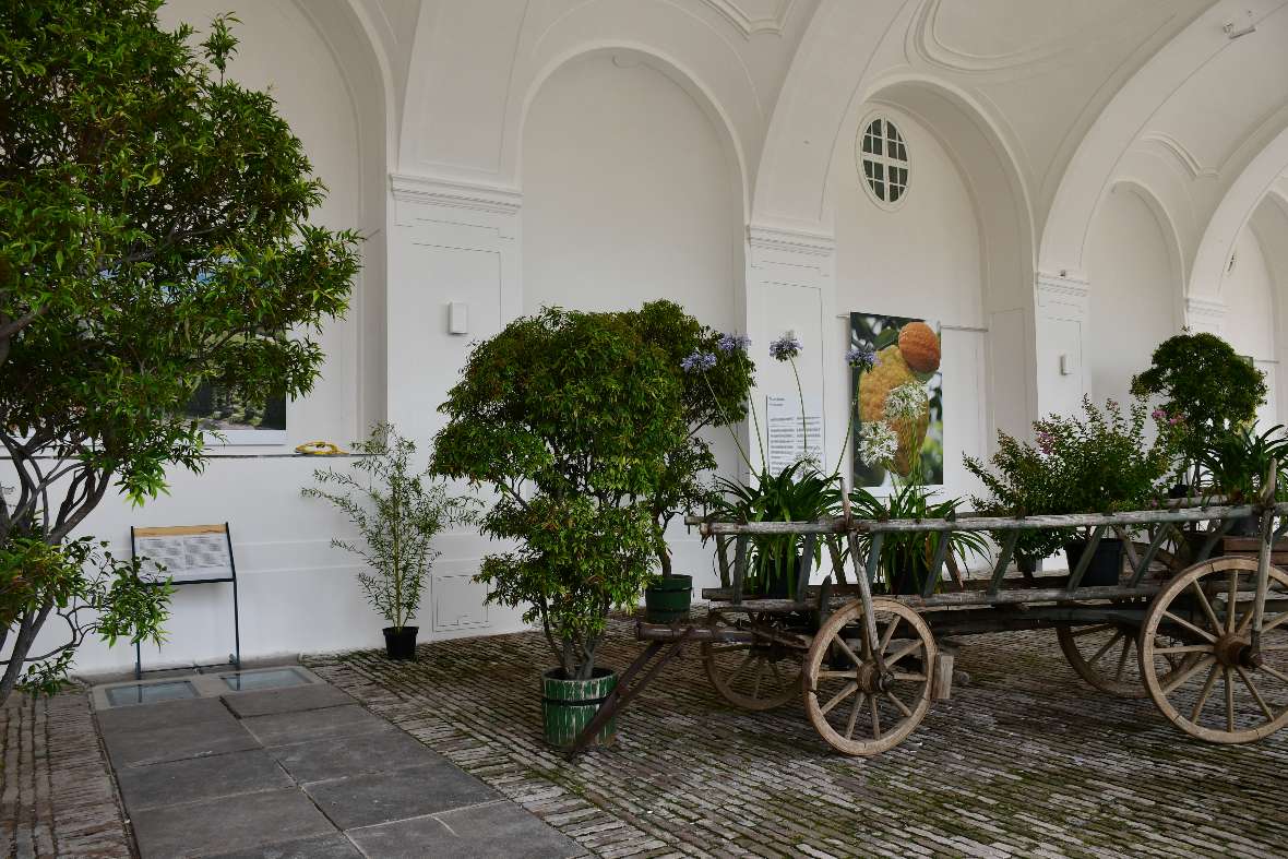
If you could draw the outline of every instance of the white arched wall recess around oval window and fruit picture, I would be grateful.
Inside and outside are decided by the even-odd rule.
[[[835,158],[829,188],[836,200],[833,316],[846,314],[837,319],[842,330],[854,310],[938,319],[944,326],[944,482],[949,493],[958,495],[974,488],[962,455],[980,456],[988,447],[979,220],[943,146],[912,117],[882,112],[908,144],[908,193],[893,211],[878,207],[860,184],[854,140],[840,142],[846,152]],[[829,359],[844,363],[844,346]],[[838,406],[833,439],[845,430],[844,401]]]

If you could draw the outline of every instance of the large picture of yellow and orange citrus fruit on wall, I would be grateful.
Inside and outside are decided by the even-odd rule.
[[[939,323],[878,313],[850,314],[850,345],[872,349],[877,364],[871,371],[851,371],[850,393],[859,394],[854,421],[854,486],[890,487],[893,477],[916,475],[926,486],[944,482],[944,373],[940,368]],[[887,406],[896,394],[900,410]],[[899,439],[891,469],[864,462],[859,434],[864,424],[885,422]],[[891,474],[890,471],[894,471]]]

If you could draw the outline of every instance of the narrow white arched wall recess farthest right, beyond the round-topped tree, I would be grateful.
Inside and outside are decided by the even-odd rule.
[[[1240,355],[1252,355],[1266,373],[1270,394],[1257,411],[1261,429],[1276,422],[1275,288],[1261,243],[1244,228],[1234,246],[1234,268],[1221,283],[1226,316],[1221,331]]]

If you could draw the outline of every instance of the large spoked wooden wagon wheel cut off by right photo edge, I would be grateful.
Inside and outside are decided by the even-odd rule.
[[[1248,743],[1288,722],[1288,612],[1266,613],[1261,650],[1253,653],[1256,581],[1256,560],[1217,558],[1172,580],[1145,616],[1140,666],[1149,697],[1199,739]],[[1270,589],[1283,599],[1288,573],[1271,567]],[[1158,647],[1159,630],[1185,644]],[[1170,672],[1167,658],[1176,654],[1191,662]]]

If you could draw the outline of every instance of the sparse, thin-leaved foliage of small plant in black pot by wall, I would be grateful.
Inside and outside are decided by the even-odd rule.
[[[367,475],[366,482],[345,471],[317,469],[313,479],[318,486],[300,493],[330,501],[362,534],[362,546],[335,537],[331,545],[367,563],[371,572],[358,573],[358,583],[381,617],[402,630],[416,617],[425,574],[438,558],[434,537],[471,523],[478,500],[452,497],[428,469],[413,471],[416,443],[389,424],[376,424],[371,435],[353,447],[359,455],[353,467]]]

